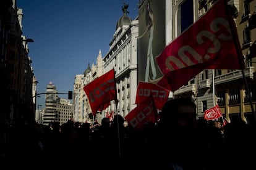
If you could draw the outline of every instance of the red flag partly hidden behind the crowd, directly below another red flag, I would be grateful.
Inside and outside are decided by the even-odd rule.
[[[124,117],[130,127],[134,129],[141,129],[145,123],[156,123],[156,113],[153,100],[151,97],[146,100],[150,99],[151,102],[142,102],[142,104],[135,107]]]

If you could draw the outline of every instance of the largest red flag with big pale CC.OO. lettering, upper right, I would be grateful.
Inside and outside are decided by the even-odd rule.
[[[226,6],[226,1],[215,2],[156,57],[164,75],[158,85],[176,91],[204,69],[245,68],[236,25]]]

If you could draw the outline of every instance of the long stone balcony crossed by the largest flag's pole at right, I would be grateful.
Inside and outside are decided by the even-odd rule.
[[[249,77],[250,79],[254,78],[254,67],[247,67],[244,70],[245,77]],[[229,81],[235,81],[237,79],[242,79],[242,71],[236,70],[230,73],[226,73],[224,75],[216,76],[215,77],[215,84],[222,84]]]

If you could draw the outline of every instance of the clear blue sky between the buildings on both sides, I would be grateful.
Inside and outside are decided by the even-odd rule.
[[[58,92],[73,91],[75,75],[83,74],[88,63],[96,64],[100,50],[103,57],[109,51],[124,2],[134,20],[139,0],[17,0],[23,35],[35,41],[28,42],[28,55],[39,82],[37,93],[46,92],[50,81]],[[59,97],[67,99],[66,94]],[[45,108],[45,94],[36,105]]]

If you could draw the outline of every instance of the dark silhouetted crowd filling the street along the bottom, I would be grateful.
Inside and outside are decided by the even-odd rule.
[[[118,118],[118,121],[117,121]],[[6,169],[255,169],[255,127],[241,121],[215,126],[197,120],[189,99],[166,102],[158,123],[143,129],[112,122],[15,129],[1,155]],[[1,168],[2,169],[2,168]]]

